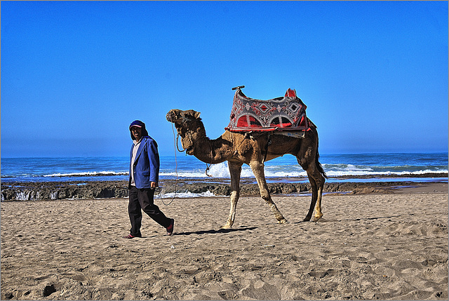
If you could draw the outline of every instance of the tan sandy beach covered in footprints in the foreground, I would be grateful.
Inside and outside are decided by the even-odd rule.
[[[1,203],[2,300],[447,300],[448,184],[326,194],[323,218],[302,222],[310,196],[255,196],[220,229],[229,197],[156,203],[175,234],[126,198]]]

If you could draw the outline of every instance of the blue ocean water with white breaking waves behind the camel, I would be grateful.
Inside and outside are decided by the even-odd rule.
[[[1,182],[128,180],[128,156],[74,158],[2,158]],[[328,182],[410,180],[423,182],[429,173],[448,173],[447,153],[425,154],[323,154],[320,162]],[[407,178],[406,175],[424,175]],[[213,164],[208,170],[217,180],[229,179],[227,163]],[[175,178],[208,178],[206,163],[194,156],[161,156],[159,181]],[[307,174],[292,155],[265,162],[268,182],[307,182]],[[339,178],[344,177],[344,179]],[[249,166],[243,165],[241,178],[254,178]],[[298,180],[299,178],[299,180]],[[448,178],[439,178],[448,181]]]

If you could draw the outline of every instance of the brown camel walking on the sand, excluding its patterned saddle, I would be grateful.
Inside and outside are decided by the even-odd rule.
[[[182,147],[189,155],[208,164],[228,162],[231,175],[231,208],[229,217],[223,229],[234,224],[236,206],[240,196],[240,175],[243,163],[248,164],[255,175],[260,196],[270,206],[279,224],[286,223],[286,218],[277,208],[270,196],[267,181],[264,176],[264,161],[269,161],[284,154],[293,154],[297,162],[307,172],[311,184],[311,203],[304,221],[311,220],[314,207],[316,212],[314,222],[322,216],[321,196],[326,178],[321,163],[319,163],[318,132],[314,126],[305,132],[304,138],[292,138],[276,133],[236,133],[225,131],[219,138],[211,140],[206,136],[206,130],[201,121],[200,112],[193,109],[182,111],[171,109],[166,119],[174,123],[178,137],[181,137]],[[311,123],[313,124],[313,123]],[[271,143],[269,143],[271,140]]]

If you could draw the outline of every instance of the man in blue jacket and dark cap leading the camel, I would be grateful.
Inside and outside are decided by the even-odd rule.
[[[129,203],[128,214],[131,222],[130,234],[125,239],[142,237],[142,210],[162,227],[167,235],[173,234],[173,218],[166,215],[154,204],[154,189],[159,182],[159,152],[157,143],[149,137],[145,123],[133,121],[129,126],[133,145],[130,151]]]

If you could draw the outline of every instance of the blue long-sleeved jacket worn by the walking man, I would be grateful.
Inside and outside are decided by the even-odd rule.
[[[129,155],[129,183],[131,183],[131,160],[133,159],[133,147]],[[151,182],[159,182],[159,152],[157,143],[149,136],[142,137],[138,152],[134,161],[134,182],[138,189],[151,188]]]

